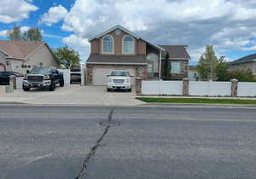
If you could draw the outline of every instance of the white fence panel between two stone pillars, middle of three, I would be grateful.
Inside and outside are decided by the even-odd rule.
[[[231,95],[231,82],[189,82],[189,95]]]

